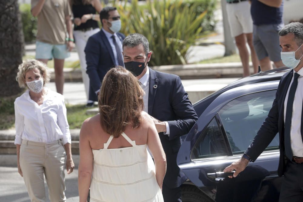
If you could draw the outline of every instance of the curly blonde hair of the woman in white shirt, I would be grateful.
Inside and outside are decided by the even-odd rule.
[[[29,59],[26,61],[23,61],[23,63],[21,65],[19,65],[18,69],[18,73],[16,76],[16,80],[19,83],[19,86],[21,88],[26,87],[26,82],[25,82],[25,74],[34,68],[38,68],[38,70],[40,71],[40,74],[43,78],[43,86],[45,85],[45,83],[49,82],[51,76],[50,73],[48,71],[48,68],[46,67],[46,65],[38,60],[35,59]]]

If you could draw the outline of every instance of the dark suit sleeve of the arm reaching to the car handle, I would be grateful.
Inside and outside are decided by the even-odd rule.
[[[279,100],[280,84],[281,81],[278,85],[276,97],[268,113],[267,118],[263,122],[261,128],[259,129],[252,143],[244,152],[249,157],[251,157],[251,161],[255,161],[258,158],[258,156],[265,150],[265,148],[270,144],[270,142],[274,139],[274,137],[278,133],[278,119],[279,119],[278,100]]]

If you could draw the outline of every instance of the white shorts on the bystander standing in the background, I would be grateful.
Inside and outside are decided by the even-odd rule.
[[[232,37],[252,33],[253,23],[248,1],[226,3],[226,11]]]

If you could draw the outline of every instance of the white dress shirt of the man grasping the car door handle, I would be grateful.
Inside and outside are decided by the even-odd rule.
[[[290,144],[291,150],[294,156],[303,157],[303,142],[301,136],[301,115],[302,115],[302,101],[303,101],[303,68],[298,72],[294,70],[294,74],[298,73],[300,76],[298,78],[298,86],[295,93],[294,104],[292,107],[292,117],[291,117],[291,126],[290,126]],[[286,116],[286,106],[288,101],[289,89],[292,82],[294,81],[294,75],[291,79],[291,82],[288,87],[288,91],[285,97],[284,102],[284,122]]]

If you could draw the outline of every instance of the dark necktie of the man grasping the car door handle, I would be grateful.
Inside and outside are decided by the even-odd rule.
[[[292,117],[292,110],[295,98],[295,92],[298,86],[298,77],[300,75],[295,73],[294,81],[292,82],[289,93],[288,93],[288,100],[286,105],[286,115],[285,115],[285,125],[284,125],[284,143],[285,143],[285,153],[286,156],[292,160],[292,151],[291,151],[291,144],[290,144],[290,128],[291,128],[291,117]]]

